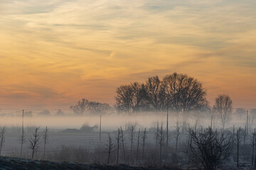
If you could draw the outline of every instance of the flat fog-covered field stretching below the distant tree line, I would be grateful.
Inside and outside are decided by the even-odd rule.
[[[41,139],[34,159],[50,161],[67,161],[91,164],[129,164],[132,166],[146,167],[178,167],[182,169],[198,166],[195,160],[188,154],[188,128],[197,125],[199,128],[207,128],[210,125],[210,116],[191,116],[186,121],[186,128],[182,129],[182,119],[179,115],[170,113],[168,145],[166,144],[166,113],[154,115],[102,115],[100,133],[100,115],[96,116],[26,116],[23,119],[25,130],[25,143],[22,154],[21,123],[18,116],[2,117],[1,125],[6,127],[4,133],[4,145],[1,148],[1,156],[31,158],[30,142],[36,127],[40,127]],[[238,127],[245,125],[242,118],[233,118],[227,124],[226,130],[230,133]],[[213,123],[215,129],[220,123]],[[49,129],[48,141],[44,153],[42,132],[46,126]],[[122,127],[124,142],[119,139],[117,145],[118,129]],[[134,127],[133,140],[131,128]],[[177,127],[181,128],[178,132]],[[146,128],[146,139],[143,142],[142,133]],[[161,136],[161,129],[163,135]],[[140,132],[140,135],[139,135]],[[227,131],[228,132],[228,131]],[[250,167],[252,162],[251,140],[252,131],[242,138],[240,142],[240,167]],[[110,135],[110,136],[109,136]],[[110,138],[112,150],[108,153]],[[162,141],[159,137],[162,137]],[[178,140],[177,140],[178,139]],[[235,145],[235,143],[234,143]],[[117,147],[118,146],[118,147]],[[118,148],[118,149],[117,149]],[[118,150],[118,151],[117,151]],[[118,152],[118,154],[117,154]],[[225,167],[228,169],[236,166],[235,147]],[[110,160],[108,161],[108,157]]]

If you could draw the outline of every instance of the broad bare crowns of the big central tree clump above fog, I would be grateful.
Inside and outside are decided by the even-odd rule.
[[[208,107],[206,89],[197,79],[186,74],[169,74],[161,81],[149,77],[145,84],[137,82],[119,86],[115,96],[117,108],[127,113],[164,111],[166,103],[175,111],[198,111]]]

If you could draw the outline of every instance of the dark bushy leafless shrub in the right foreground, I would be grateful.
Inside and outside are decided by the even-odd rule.
[[[212,128],[189,128],[188,133],[191,137],[188,149],[205,169],[214,170],[229,157],[232,147],[232,137],[229,134]]]

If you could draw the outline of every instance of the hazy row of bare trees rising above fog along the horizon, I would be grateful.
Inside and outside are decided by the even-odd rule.
[[[233,113],[233,101],[226,94],[219,94],[211,108],[207,101],[207,91],[203,84],[194,77],[187,74],[167,74],[163,79],[156,75],[149,77],[145,82],[132,82],[131,84],[117,87],[114,96],[115,105],[88,101],[81,101],[70,106],[76,115],[104,114],[104,113],[126,113],[137,114],[139,112],[164,113],[167,110],[181,113],[183,123],[190,113],[210,113],[213,118],[220,120],[224,129]],[[244,111],[238,108],[237,112]],[[248,118],[249,128],[256,119],[256,112],[252,109]],[[248,114],[248,113],[247,113]]]

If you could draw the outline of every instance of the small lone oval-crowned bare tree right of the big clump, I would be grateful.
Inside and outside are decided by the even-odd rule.
[[[233,102],[230,96],[221,94],[217,98],[215,98],[215,104],[213,106],[213,110],[218,114],[218,118],[222,123],[223,129],[225,128],[225,123],[230,118],[232,109],[233,109]]]

